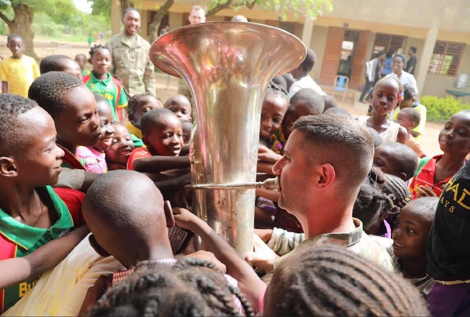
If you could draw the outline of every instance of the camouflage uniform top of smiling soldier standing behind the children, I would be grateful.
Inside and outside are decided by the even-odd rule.
[[[121,33],[113,36],[107,45],[113,57],[113,76],[122,82],[126,93],[155,95],[154,66],[148,56],[150,44],[138,34],[127,37]]]

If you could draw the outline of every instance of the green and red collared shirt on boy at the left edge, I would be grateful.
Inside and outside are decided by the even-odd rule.
[[[25,256],[47,242],[84,224],[81,204],[84,194],[69,188],[36,188],[41,197],[49,197],[58,220],[49,228],[25,225],[0,209],[0,260]],[[2,272],[3,274],[5,272]],[[32,278],[0,290],[0,314],[13,306],[36,284]]]

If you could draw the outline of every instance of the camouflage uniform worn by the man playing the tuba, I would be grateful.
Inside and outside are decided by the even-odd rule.
[[[274,262],[274,268],[295,252],[314,245],[333,244],[344,246],[363,258],[380,265],[388,272],[393,272],[393,262],[387,250],[362,230],[362,222],[359,219],[352,218],[352,221],[356,228],[351,232],[320,234],[307,240],[305,240],[303,233],[287,232],[274,228],[268,247],[282,255]]]

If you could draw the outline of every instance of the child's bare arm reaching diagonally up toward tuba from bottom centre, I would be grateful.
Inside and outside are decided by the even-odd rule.
[[[183,208],[173,208],[175,222],[177,226],[188,229],[201,237],[208,249],[215,254],[217,259],[226,265],[227,274],[238,281],[238,287],[247,297],[248,301],[258,309],[259,295],[266,289],[266,284],[262,282],[251,266],[246,263],[236,251],[229,246],[211,227]]]

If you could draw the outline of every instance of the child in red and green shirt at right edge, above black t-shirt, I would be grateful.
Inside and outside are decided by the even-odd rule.
[[[442,155],[422,158],[410,182],[414,198],[441,196],[447,182],[464,166],[470,153],[470,110],[455,113],[439,134]]]

